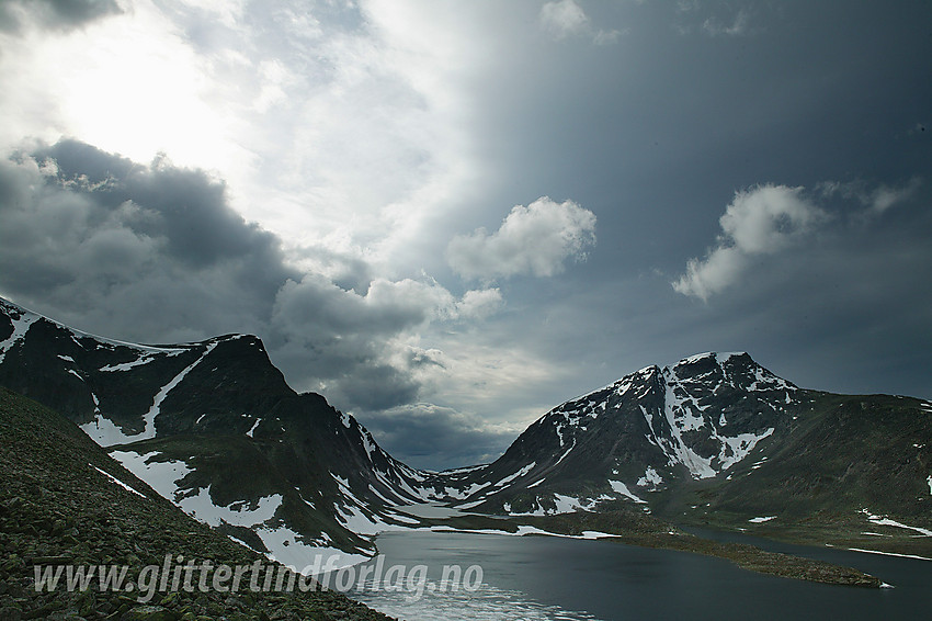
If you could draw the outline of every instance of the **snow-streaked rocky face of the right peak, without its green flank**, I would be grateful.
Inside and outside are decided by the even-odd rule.
[[[785,425],[798,393],[747,353],[647,366],[544,415],[502,458],[464,477],[473,486],[464,499],[532,513],[592,499],[646,505],[646,492],[715,477],[746,459]]]

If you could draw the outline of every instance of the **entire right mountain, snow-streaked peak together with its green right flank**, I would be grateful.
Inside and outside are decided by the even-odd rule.
[[[929,553],[930,415],[921,399],[803,389],[747,353],[704,353],[566,402],[496,462],[428,483],[489,513],[622,505],[761,532],[834,524],[899,550],[906,535]]]

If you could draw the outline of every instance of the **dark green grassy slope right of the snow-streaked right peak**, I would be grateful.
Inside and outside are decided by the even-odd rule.
[[[684,483],[659,495],[656,510],[683,524],[932,557],[932,537],[876,523],[883,516],[932,531],[932,445],[922,440],[932,438],[932,413],[924,402],[807,393],[807,407],[772,441],[765,461]],[[776,518],[748,521],[761,516]]]

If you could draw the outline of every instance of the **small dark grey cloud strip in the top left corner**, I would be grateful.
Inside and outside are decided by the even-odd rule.
[[[33,23],[67,31],[120,12],[115,0],[0,0],[0,30],[15,33]]]

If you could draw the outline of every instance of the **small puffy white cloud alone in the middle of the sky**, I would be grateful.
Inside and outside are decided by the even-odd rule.
[[[595,215],[572,201],[547,196],[515,205],[491,235],[480,228],[456,236],[447,247],[450,267],[466,279],[518,274],[552,276],[568,259],[584,260],[595,244]]]

